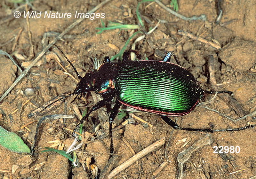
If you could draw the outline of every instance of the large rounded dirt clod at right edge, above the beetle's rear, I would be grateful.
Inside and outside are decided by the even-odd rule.
[[[236,37],[220,51],[219,58],[227,65],[232,66],[235,71],[242,73],[256,63],[255,46],[255,42],[244,41]]]

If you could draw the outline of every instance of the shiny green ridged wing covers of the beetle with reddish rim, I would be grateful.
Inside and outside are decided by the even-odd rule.
[[[193,74],[169,62],[124,61],[117,71],[113,82],[116,98],[142,111],[185,115],[204,95]]]

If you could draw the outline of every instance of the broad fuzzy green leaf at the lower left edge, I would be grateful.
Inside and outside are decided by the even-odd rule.
[[[9,132],[0,126],[0,144],[13,152],[26,152],[30,153],[30,149],[26,144],[24,144],[23,140],[14,134],[13,132]]]

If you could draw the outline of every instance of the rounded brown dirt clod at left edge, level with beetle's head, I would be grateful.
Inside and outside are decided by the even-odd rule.
[[[0,55],[0,96],[12,85],[16,72],[17,66],[9,58]]]

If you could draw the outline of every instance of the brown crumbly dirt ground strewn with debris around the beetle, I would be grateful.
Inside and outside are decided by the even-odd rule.
[[[11,0],[1,1],[0,49],[10,54],[24,71],[42,49],[56,37],[56,34],[63,32],[71,23],[77,20],[75,18],[76,12],[87,12],[100,2],[92,0],[85,2],[78,0],[35,0],[30,2],[33,7],[31,8],[28,5],[27,9],[31,13],[32,11],[42,12],[41,17],[26,19],[24,18],[24,11],[26,11],[24,4],[12,3]],[[95,13],[105,14],[102,18],[105,25],[109,24],[108,21],[139,24],[136,16],[138,3],[139,1],[113,0]],[[167,0],[163,0],[162,3],[167,6],[170,4]],[[139,7],[139,13],[145,26],[145,32],[155,27],[159,20],[162,21],[153,33],[136,43],[135,50],[141,55],[146,54],[146,57],[151,60],[161,60],[166,51],[174,51],[181,65],[195,75],[202,89],[212,89],[209,84],[209,66],[206,57],[213,54],[218,87],[221,90],[233,91],[233,97],[242,106],[245,114],[255,111],[256,2],[223,0],[221,3],[223,16],[219,24],[215,23],[218,15],[216,2],[213,0],[178,0],[178,4],[178,13],[183,16],[192,17],[204,14],[207,20],[185,21],[166,12],[155,2],[142,3]],[[20,7],[18,11],[22,12],[21,17],[14,18],[14,10],[18,7]],[[71,13],[72,16],[70,18],[44,18],[45,12]],[[102,27],[100,18],[84,19],[56,42],[71,61],[76,60],[73,64],[81,76],[95,70],[93,63],[95,58],[101,60],[101,62],[105,56],[111,58],[122,49],[127,39],[138,31],[114,29],[96,34],[99,32],[96,27]],[[178,30],[200,36],[210,42],[218,42],[221,49],[216,49],[210,44],[199,42],[196,39],[178,35]],[[45,36],[46,34],[48,36]],[[131,49],[132,43],[140,35],[133,37],[132,42],[128,44],[126,49]],[[21,72],[8,57],[3,55],[0,55],[0,57],[0,95],[2,96]],[[19,135],[29,147],[32,144],[31,134],[29,135],[30,130],[35,129],[37,124],[35,120],[40,119],[40,117],[37,117],[38,119],[28,118],[28,114],[54,97],[68,91],[73,92],[76,88],[77,82],[68,74],[63,73],[65,71],[57,63],[58,60],[63,66],[68,65],[60,52],[51,47],[0,103],[0,126]],[[66,67],[66,70],[76,77],[70,66]],[[206,94],[203,101],[208,101],[212,97],[213,95]],[[73,96],[68,97],[65,103],[61,103],[58,107],[54,109],[50,107],[52,110],[47,112],[47,115],[67,114],[74,115],[75,118],[44,122],[39,128],[38,142],[33,156],[26,153],[10,152],[0,146],[0,178],[94,178],[91,169],[86,166],[86,160],[88,161],[88,159],[92,160],[90,165],[95,164],[100,171],[103,170],[110,152],[109,137],[107,135],[105,137],[101,136],[102,134],[108,134],[109,130],[109,110],[107,111],[106,107],[93,112],[88,120],[84,122],[84,131],[86,131],[84,136],[89,136],[89,139],[76,153],[80,163],[85,163],[85,170],[82,166],[72,168],[72,163],[67,158],[55,152],[41,153],[45,150],[44,147],[52,145],[52,143],[47,143],[49,141],[54,141],[53,144],[56,145],[64,144],[63,150],[67,151],[73,137],[71,132],[63,129],[63,127],[73,129],[78,123],[79,117],[74,108],[78,108],[79,113],[83,113],[87,107],[90,109],[98,102],[100,96],[91,92],[71,104],[73,99]],[[113,104],[114,100],[111,104],[112,107]],[[213,102],[206,106],[233,119],[239,118],[234,109],[220,97],[216,97]],[[114,126],[118,126],[125,119],[132,118],[131,113],[127,112],[125,106],[122,109],[125,109],[123,113],[126,113],[126,116],[121,119],[116,118]],[[132,118],[130,121],[135,122],[114,129],[114,154],[119,156],[114,167],[132,157],[132,150],[138,153],[162,137],[166,137],[168,141],[172,132],[172,127],[162,121],[158,115],[132,111],[133,114],[152,124],[153,127]],[[171,119],[174,118],[171,117]],[[34,122],[29,124],[27,128],[21,128],[21,126],[31,121]],[[64,121],[65,124],[63,124]],[[101,126],[94,133],[95,126],[99,123],[101,123]],[[239,128],[246,126],[248,123],[255,124],[255,115],[232,122],[218,113],[198,106],[191,113],[178,117],[177,123],[181,127],[188,128],[210,128],[212,124],[213,129]],[[188,149],[205,135],[201,132],[174,131],[170,145],[167,148],[166,159],[164,153],[167,142],[124,169],[114,178],[153,178],[153,172],[166,160],[168,161],[166,167],[155,178],[175,178],[178,173],[178,154],[184,149]],[[255,176],[255,135],[256,131],[253,128],[236,132],[213,133],[212,144],[199,148],[192,153],[189,161],[185,162],[183,167],[184,178],[247,179]],[[188,141],[185,146],[183,146],[185,142],[177,144],[178,141],[184,138],[187,138],[186,142]],[[128,144],[126,145],[125,142]],[[239,146],[240,152],[228,152],[226,154],[228,159],[225,158],[226,160],[224,160],[219,154],[213,153],[214,146]],[[58,146],[54,148],[58,149]],[[230,174],[232,172],[236,173]]]

